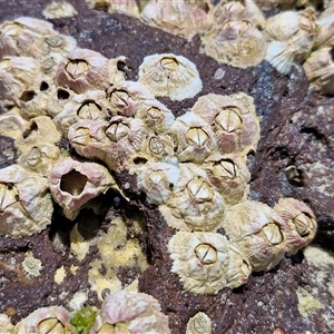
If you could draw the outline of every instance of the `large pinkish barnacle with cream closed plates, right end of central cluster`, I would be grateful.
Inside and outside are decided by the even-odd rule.
[[[246,96],[237,96],[247,104]],[[202,96],[191,110],[210,125],[222,154],[236,153],[245,156],[255,150],[259,139],[259,120],[254,105],[246,108],[238,99],[208,94]],[[252,99],[252,98],[250,98]]]

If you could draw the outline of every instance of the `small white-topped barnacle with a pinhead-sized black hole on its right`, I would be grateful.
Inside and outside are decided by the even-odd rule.
[[[166,203],[179,178],[179,168],[165,163],[147,163],[144,168],[137,177],[138,189],[145,191],[148,203]]]

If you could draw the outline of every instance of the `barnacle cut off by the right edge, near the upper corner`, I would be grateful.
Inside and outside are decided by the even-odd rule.
[[[324,95],[334,95],[333,58],[333,48],[321,48],[313,51],[303,65],[311,87]]]

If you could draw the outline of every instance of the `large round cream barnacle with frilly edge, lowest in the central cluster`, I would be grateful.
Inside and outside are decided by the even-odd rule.
[[[227,238],[217,233],[177,232],[168,243],[171,272],[196,294],[216,294],[226,286]]]

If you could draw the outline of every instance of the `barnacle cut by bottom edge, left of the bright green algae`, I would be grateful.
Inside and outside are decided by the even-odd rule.
[[[73,331],[69,312],[62,306],[49,306],[38,308],[21,320],[14,326],[13,334],[65,334]]]

